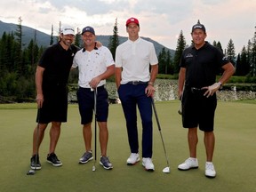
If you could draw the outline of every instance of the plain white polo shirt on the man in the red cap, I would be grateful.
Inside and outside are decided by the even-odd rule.
[[[149,65],[158,64],[154,44],[142,38],[128,39],[116,48],[116,68],[123,68],[121,84],[129,81],[148,82]]]

